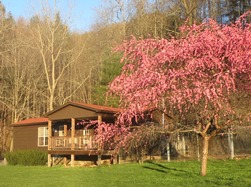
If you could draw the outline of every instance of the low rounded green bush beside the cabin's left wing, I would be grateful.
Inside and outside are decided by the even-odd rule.
[[[9,165],[38,166],[47,162],[47,154],[38,150],[9,152],[5,158]]]

